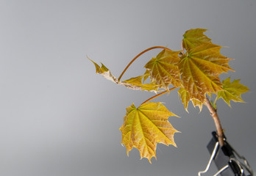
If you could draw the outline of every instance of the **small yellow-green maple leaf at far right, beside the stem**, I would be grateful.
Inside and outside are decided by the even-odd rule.
[[[225,79],[223,81],[224,90],[218,92],[216,100],[222,98],[229,106],[230,100],[244,103],[241,94],[249,91],[249,89],[246,86],[243,86],[243,84],[240,84],[239,81],[240,79],[234,79],[233,82],[230,81],[230,78]]]

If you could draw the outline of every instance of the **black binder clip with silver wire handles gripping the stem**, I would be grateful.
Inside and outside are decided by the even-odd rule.
[[[210,168],[212,161],[216,164],[218,172],[214,176],[253,176],[252,168],[249,166],[248,161],[243,156],[239,155],[227,142],[224,136],[224,145],[219,147],[218,136],[213,131],[213,139],[207,144],[207,149],[211,153],[210,161],[204,171],[198,172],[201,176],[206,173]]]

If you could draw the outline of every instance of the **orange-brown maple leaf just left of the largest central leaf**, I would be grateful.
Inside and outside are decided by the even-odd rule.
[[[182,87],[179,67],[177,66],[180,60],[179,53],[180,51],[163,50],[145,65],[152,81],[162,85],[164,89],[168,89],[169,84],[174,85],[174,87]]]

